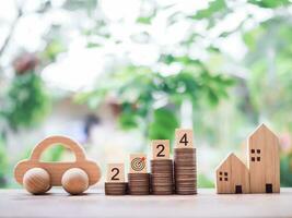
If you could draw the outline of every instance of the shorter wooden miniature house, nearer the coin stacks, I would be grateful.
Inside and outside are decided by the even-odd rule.
[[[249,173],[246,166],[234,154],[230,154],[217,168],[217,193],[249,193]]]

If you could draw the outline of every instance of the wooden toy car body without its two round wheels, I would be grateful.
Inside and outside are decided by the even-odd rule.
[[[43,162],[39,160],[43,152],[51,145],[61,144],[71,149],[75,155],[73,162]],[[30,159],[20,161],[14,168],[14,178],[22,184],[25,172],[32,168],[45,169],[50,174],[50,184],[54,186],[61,185],[63,173],[71,168],[80,168],[89,175],[89,184],[95,184],[101,179],[101,169],[98,165],[85,157],[82,146],[66,136],[51,136],[42,141],[32,152]]]

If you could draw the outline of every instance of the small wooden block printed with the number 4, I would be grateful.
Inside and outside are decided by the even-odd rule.
[[[175,130],[175,145],[177,148],[194,147],[194,136],[191,129]]]

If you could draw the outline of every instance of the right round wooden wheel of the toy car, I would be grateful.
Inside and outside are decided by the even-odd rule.
[[[89,189],[89,175],[80,168],[67,170],[62,175],[62,186],[66,192],[75,195],[85,192]]]

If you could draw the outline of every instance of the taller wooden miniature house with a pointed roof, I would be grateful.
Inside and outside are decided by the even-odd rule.
[[[279,138],[261,124],[248,138],[252,193],[280,192]]]

